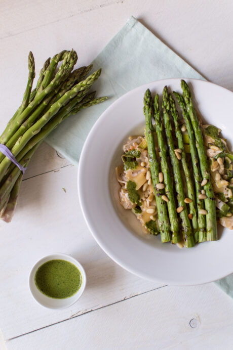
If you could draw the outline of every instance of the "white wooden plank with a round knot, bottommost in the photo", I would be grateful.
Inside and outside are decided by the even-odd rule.
[[[232,315],[230,298],[213,284],[164,287],[10,340],[7,345],[9,350],[230,349]]]

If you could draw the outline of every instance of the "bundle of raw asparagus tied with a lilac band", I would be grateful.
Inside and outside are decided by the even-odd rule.
[[[49,58],[35,89],[31,90],[35,65],[29,53],[29,75],[22,104],[0,137],[0,144],[11,151],[22,167],[27,166],[36,148],[65,118],[106,99],[95,98],[95,92],[89,92],[101,69],[89,76],[92,65],[72,71],[76,61],[77,54],[73,50]],[[11,221],[22,176],[20,168],[0,153],[0,217],[6,222]]]

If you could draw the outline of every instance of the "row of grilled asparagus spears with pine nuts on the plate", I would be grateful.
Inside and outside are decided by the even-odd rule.
[[[167,86],[163,90],[163,118],[160,115],[159,96],[156,95],[153,103],[149,90],[144,95],[143,110],[161,240],[178,243],[182,232],[185,246],[192,247],[195,242],[217,240],[216,207],[202,129],[193,107],[189,87],[184,80],[181,80],[181,87],[183,96],[176,92],[174,95],[181,107],[183,127],[186,128],[189,138],[191,167],[186,159],[175,101],[168,93]],[[152,117],[155,120],[154,126]],[[159,157],[154,145],[155,131]],[[187,187],[187,197],[184,183]]]

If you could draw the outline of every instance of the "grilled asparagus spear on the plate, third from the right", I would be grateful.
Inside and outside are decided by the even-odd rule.
[[[191,202],[189,203],[189,214],[192,215],[191,221],[192,221],[193,233],[195,236],[195,242],[198,242],[199,231],[198,231],[198,215],[197,215],[197,207],[196,207],[195,188],[193,185],[191,173],[188,168],[188,163],[186,160],[186,154],[185,154],[184,145],[183,145],[183,137],[182,137],[182,132],[181,132],[180,123],[179,123],[179,115],[176,110],[175,101],[173,100],[172,95],[169,95],[169,102],[171,106],[171,115],[173,117],[174,124],[175,124],[175,133],[176,133],[176,138],[178,140],[178,148],[182,150],[181,163],[184,171],[184,176],[187,182],[188,198],[191,200]]]

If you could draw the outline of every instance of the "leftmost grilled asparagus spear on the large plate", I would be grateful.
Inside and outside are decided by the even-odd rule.
[[[159,230],[161,234],[161,241],[164,243],[164,242],[171,241],[170,223],[168,218],[167,205],[166,205],[166,202],[162,199],[162,196],[165,194],[164,190],[158,189],[156,187],[156,185],[160,183],[159,181],[160,168],[159,168],[159,162],[156,155],[156,148],[154,146],[154,138],[153,138],[154,129],[151,121],[152,98],[151,98],[149,89],[146,90],[144,95],[143,112],[145,115],[145,123],[146,123],[145,136],[147,140],[151,179],[153,183],[154,197],[156,198],[156,204],[158,208]]]

